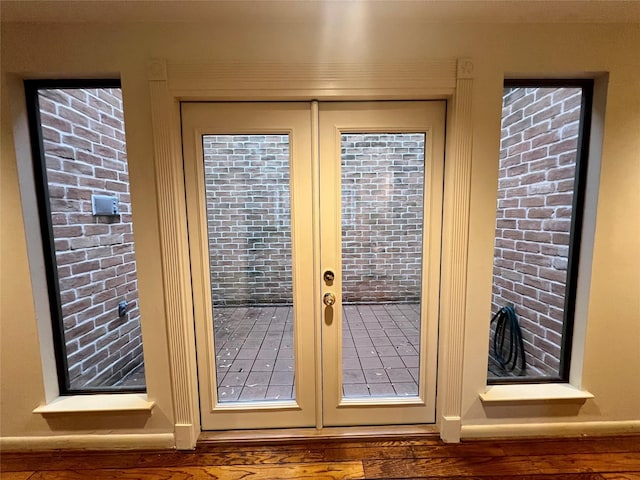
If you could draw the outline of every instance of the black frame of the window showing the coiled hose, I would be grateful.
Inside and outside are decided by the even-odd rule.
[[[560,365],[558,376],[548,377],[488,377],[487,385],[551,384],[570,383],[571,354],[575,322],[576,297],[579,281],[580,251],[584,224],[584,206],[587,190],[589,145],[591,137],[591,117],[593,113],[593,78],[505,78],[506,88],[580,88],[580,124],[576,145],[576,171],[574,175],[571,227],[569,230],[569,254],[567,257],[567,279],[563,306],[562,339],[560,344]],[[504,98],[504,96],[502,97]],[[502,102],[501,102],[502,103]],[[502,114],[501,114],[502,121]],[[494,237],[495,241],[495,237]],[[495,257],[494,257],[495,259]],[[491,342],[491,339],[489,338]]]

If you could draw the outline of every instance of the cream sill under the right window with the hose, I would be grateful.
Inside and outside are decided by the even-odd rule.
[[[520,385],[490,385],[480,394],[483,403],[542,402],[553,400],[585,401],[593,398],[586,390],[568,383],[537,383]]]

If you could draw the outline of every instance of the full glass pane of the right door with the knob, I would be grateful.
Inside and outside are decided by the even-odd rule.
[[[341,141],[343,395],[417,396],[425,135]]]

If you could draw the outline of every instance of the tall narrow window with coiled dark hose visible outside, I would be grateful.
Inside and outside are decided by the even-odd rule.
[[[566,382],[593,82],[505,82],[489,383]]]

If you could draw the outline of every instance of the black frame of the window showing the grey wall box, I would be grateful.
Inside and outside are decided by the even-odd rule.
[[[91,387],[71,388],[69,366],[67,360],[62,302],[60,298],[60,283],[56,261],[55,238],[51,220],[51,206],[49,203],[49,183],[47,165],[42,135],[42,121],[38,93],[45,89],[94,89],[119,88],[122,83],[118,78],[88,78],[88,79],[38,79],[24,80],[24,91],[27,108],[27,124],[29,141],[33,160],[33,177],[38,209],[38,224],[44,258],[44,269],[47,282],[47,297],[51,316],[53,336],[53,350],[56,363],[57,383],[59,395],[94,395],[94,394],[123,394],[146,393],[145,387]]]

